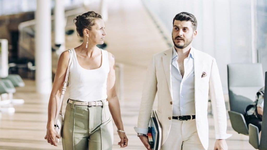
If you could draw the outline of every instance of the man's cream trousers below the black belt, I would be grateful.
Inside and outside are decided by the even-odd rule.
[[[173,119],[170,133],[162,150],[204,150],[198,137],[196,120],[179,121]]]

